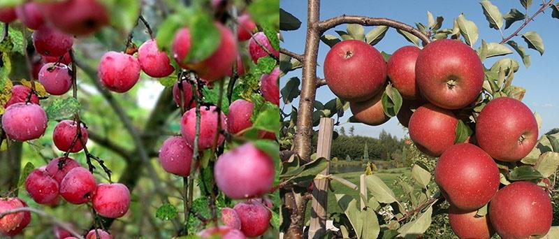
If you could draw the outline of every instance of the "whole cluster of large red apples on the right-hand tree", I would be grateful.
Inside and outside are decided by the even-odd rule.
[[[441,39],[423,49],[402,47],[385,62],[363,41],[342,41],[326,55],[324,76],[332,92],[349,101],[354,117],[370,125],[390,119],[381,102],[387,80],[398,89],[404,99],[398,120],[421,152],[440,157],[435,182],[451,204],[450,224],[458,237],[489,238],[493,229],[503,238],[549,231],[549,194],[532,182],[500,188],[495,163],[520,161],[535,146],[538,126],[528,106],[509,97],[489,101],[474,134],[455,143],[457,113],[476,105],[484,82],[484,66],[470,46]],[[488,215],[477,216],[487,203]]]

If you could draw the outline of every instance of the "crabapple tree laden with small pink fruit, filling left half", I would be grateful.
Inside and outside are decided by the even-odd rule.
[[[0,1],[0,238],[279,229],[279,1]]]

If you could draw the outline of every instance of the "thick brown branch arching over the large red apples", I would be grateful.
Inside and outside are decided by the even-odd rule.
[[[319,31],[323,33],[324,31],[334,28],[340,24],[347,24],[347,23],[354,23],[354,24],[361,24],[363,26],[388,26],[394,29],[400,29],[402,31],[407,31],[414,36],[417,36],[423,43],[430,43],[431,40],[429,36],[423,34],[418,29],[405,24],[403,22],[398,22],[396,20],[391,20],[385,17],[363,17],[363,16],[356,16],[356,15],[341,15],[337,17],[332,17],[330,19],[324,20],[319,22]]]

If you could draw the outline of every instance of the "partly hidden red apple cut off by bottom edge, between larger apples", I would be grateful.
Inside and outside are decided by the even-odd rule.
[[[449,223],[458,238],[489,239],[495,233],[489,222],[489,215],[479,217],[477,210],[468,212],[451,205]]]

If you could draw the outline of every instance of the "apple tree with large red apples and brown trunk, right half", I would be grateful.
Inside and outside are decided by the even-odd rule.
[[[301,80],[287,79],[281,90],[284,105],[291,105],[282,108],[279,136],[285,238],[421,238],[441,214],[459,238],[559,236],[559,227],[551,226],[559,133],[540,131],[542,118],[522,102],[525,89],[513,83],[521,64],[530,66],[530,50],[544,54],[543,39],[528,25],[544,11],[559,18],[559,4],[520,1],[507,14],[491,1],[479,4],[500,41],[481,39],[481,22],[464,14],[444,22],[428,12],[427,21],[415,27],[346,14],[321,20],[320,1],[307,1],[305,52],[281,48],[279,57],[283,73],[302,70]],[[300,28],[296,16],[284,9],[280,14],[280,30]],[[346,30],[332,35],[340,25]],[[374,27],[365,34],[363,26]],[[412,45],[392,54],[377,50],[389,28]],[[317,62],[319,46],[330,48],[324,62]],[[522,63],[510,57],[514,52]],[[317,65],[324,79],[317,77]],[[337,97],[316,101],[322,86]],[[349,122],[370,126],[398,118],[415,154],[412,175],[398,180],[405,192],[399,197],[368,170],[356,198],[334,191],[342,213],[328,214],[330,180],[359,189],[324,173],[329,162],[315,157],[312,138],[321,118],[337,118],[339,124],[348,109]],[[338,230],[326,231],[326,220]]]

